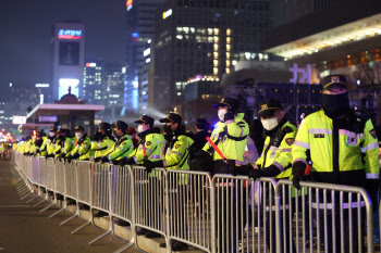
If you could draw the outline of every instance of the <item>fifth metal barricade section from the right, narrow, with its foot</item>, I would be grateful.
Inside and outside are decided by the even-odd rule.
[[[134,194],[133,194],[133,179],[130,166],[113,166],[110,165],[110,214],[111,220],[113,217],[130,223],[131,227],[134,226]],[[133,228],[134,230],[134,228]],[[112,235],[116,238],[125,241],[114,232],[114,225],[112,223]],[[134,237],[118,252],[122,252],[133,245],[135,242]]]

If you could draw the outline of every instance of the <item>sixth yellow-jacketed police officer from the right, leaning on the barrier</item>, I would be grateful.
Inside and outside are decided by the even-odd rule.
[[[113,134],[118,140],[112,149],[100,157],[101,163],[109,163],[113,161],[114,164],[118,164],[121,159],[126,157],[134,152],[133,141],[127,135],[127,124],[125,122],[118,121],[112,127],[114,128]]]

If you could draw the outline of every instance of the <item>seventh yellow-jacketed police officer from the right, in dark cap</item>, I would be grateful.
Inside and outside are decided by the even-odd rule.
[[[112,130],[110,124],[106,122],[100,123],[98,126],[98,131],[94,136],[94,140],[91,142],[93,154],[90,160],[94,160],[94,162],[99,162],[100,157],[112,149],[115,141],[111,135]]]

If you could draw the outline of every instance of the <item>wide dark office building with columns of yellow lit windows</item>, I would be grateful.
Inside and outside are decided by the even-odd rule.
[[[157,16],[152,105],[183,113],[188,78],[221,79],[237,61],[265,58],[259,50],[270,26],[267,0],[168,1]]]

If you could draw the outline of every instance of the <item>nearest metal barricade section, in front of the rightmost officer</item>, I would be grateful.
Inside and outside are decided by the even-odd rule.
[[[373,253],[372,203],[359,187],[300,182],[296,191],[290,180],[276,185],[278,252]],[[282,206],[290,205],[285,214]],[[365,243],[365,237],[367,243]]]

